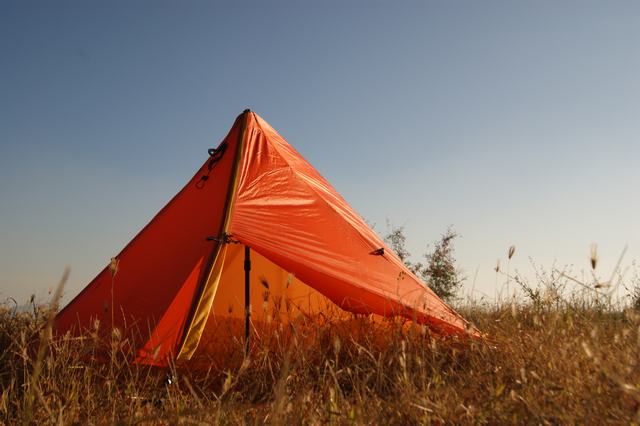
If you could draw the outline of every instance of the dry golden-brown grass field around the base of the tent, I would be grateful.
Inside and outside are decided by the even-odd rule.
[[[109,362],[87,362],[91,336],[38,354],[29,341],[46,309],[5,305],[0,422],[640,422],[639,311],[557,297],[459,310],[485,340],[443,339],[398,321],[329,321],[276,333],[244,362],[237,342],[227,371],[189,373],[132,366],[115,351]]]

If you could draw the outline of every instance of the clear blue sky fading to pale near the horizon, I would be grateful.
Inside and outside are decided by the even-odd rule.
[[[0,299],[76,294],[246,107],[476,297],[640,256],[638,1],[2,0]]]

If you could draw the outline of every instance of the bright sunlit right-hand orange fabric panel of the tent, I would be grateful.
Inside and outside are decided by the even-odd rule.
[[[231,235],[355,313],[403,314],[441,331],[466,321],[425,286],[269,124],[249,114]],[[381,256],[371,253],[384,248]]]

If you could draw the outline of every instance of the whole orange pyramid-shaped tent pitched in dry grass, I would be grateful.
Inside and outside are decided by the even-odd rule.
[[[132,342],[136,362],[162,366],[215,351],[224,320],[234,320],[233,333],[242,336],[248,313],[259,321],[274,312],[251,306],[279,312],[283,301],[301,314],[337,305],[402,315],[442,334],[476,334],[249,110],[187,185],[58,314],[55,330],[78,335],[100,323],[109,335],[117,328]]]

